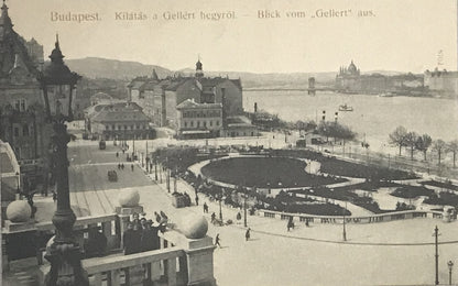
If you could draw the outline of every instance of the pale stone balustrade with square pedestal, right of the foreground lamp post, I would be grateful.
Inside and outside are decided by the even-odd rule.
[[[216,285],[211,238],[187,239],[177,231],[161,234],[161,249],[129,255],[83,260],[91,286]],[[50,265],[41,267],[40,282]]]

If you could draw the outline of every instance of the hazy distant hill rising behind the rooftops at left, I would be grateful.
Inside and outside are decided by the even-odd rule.
[[[99,57],[66,59],[65,63],[73,72],[88,78],[130,80],[137,76],[151,76],[154,68],[160,77],[172,75],[171,70],[161,66],[143,65],[137,62],[123,62]]]

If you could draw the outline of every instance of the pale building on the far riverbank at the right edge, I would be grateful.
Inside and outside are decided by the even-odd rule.
[[[446,69],[425,72],[425,87],[429,92],[443,97],[458,96],[458,72],[448,72]]]

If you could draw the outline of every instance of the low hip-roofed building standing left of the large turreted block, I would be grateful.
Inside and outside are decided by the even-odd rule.
[[[97,105],[86,110],[86,130],[103,140],[153,139],[150,122],[134,102]]]

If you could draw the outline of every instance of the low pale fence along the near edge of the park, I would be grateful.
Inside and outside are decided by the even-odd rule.
[[[361,216],[361,217],[337,217],[337,216],[314,216],[305,213],[291,213],[291,212],[281,212],[274,210],[260,209],[257,210],[257,215],[264,218],[288,220],[293,218],[301,222],[310,222],[310,223],[375,223],[375,222],[386,222],[394,220],[405,220],[405,219],[415,219],[415,218],[432,218],[432,219],[447,219],[450,221],[450,218],[445,217],[441,211],[435,210],[404,210],[404,211],[394,211],[388,213],[379,213],[372,216]]]

